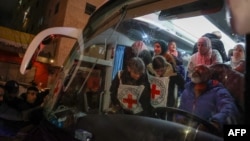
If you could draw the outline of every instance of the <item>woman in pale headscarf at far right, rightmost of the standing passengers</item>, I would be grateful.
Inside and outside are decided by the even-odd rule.
[[[234,70],[240,73],[245,73],[245,47],[242,44],[236,44],[234,46],[233,55],[226,64],[229,64]]]

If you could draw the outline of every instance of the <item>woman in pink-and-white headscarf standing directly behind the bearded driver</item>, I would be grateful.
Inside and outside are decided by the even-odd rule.
[[[216,63],[222,63],[220,53],[212,49],[211,40],[207,37],[201,37],[197,42],[198,52],[193,54],[188,63],[188,74],[191,74],[194,67],[200,64],[212,65]]]

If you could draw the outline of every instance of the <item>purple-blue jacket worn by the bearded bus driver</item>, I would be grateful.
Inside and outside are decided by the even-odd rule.
[[[194,83],[186,84],[179,108],[193,113],[207,121],[215,121],[222,127],[228,119],[237,119],[239,111],[233,97],[218,81],[209,81],[208,88],[195,98]]]

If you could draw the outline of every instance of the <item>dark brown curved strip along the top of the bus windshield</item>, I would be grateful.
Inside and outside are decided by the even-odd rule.
[[[98,9],[89,19],[83,31],[85,41],[90,40],[108,28],[119,24],[120,21],[140,17],[157,11],[171,10],[175,17],[189,17],[190,14],[208,14],[220,10],[224,0],[128,0],[107,2],[103,8]],[[188,4],[191,3],[191,6]],[[214,4],[215,3],[215,4]],[[143,5],[143,6],[141,6]],[[194,5],[194,6],[192,6]],[[180,10],[184,7],[184,10]],[[166,9],[166,10],[164,10]],[[109,12],[104,12],[104,11]],[[190,14],[189,14],[190,12]],[[105,14],[104,14],[105,13]],[[183,14],[185,13],[185,14]],[[169,16],[171,16],[169,15]]]

